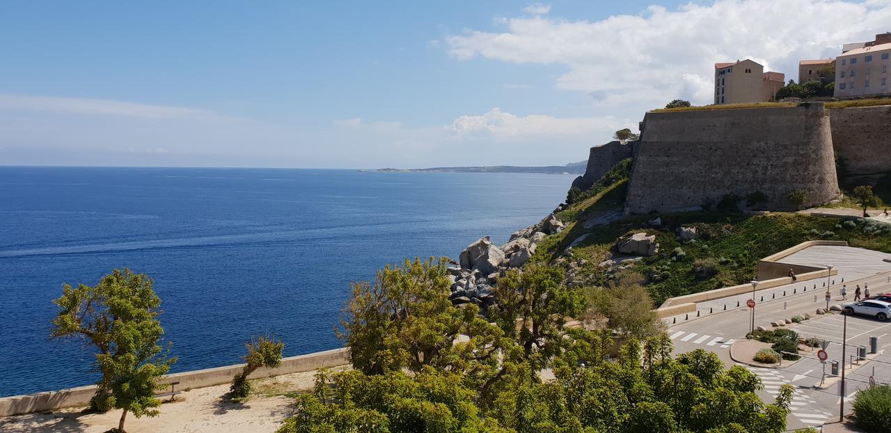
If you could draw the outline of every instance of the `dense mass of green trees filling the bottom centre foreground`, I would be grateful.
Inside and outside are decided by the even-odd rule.
[[[553,267],[502,277],[488,320],[475,305],[452,306],[447,282],[445,262],[416,259],[384,268],[373,284],[356,284],[340,333],[355,370],[319,372],[279,431],[785,429],[789,386],[764,404],[754,373],[724,370],[717,355],[701,349],[673,358],[665,333],[623,344],[621,336],[642,333],[634,324],[618,334],[567,328],[566,317],[585,310],[585,297]],[[633,286],[616,286],[610,296]],[[541,379],[544,368],[554,380]]]

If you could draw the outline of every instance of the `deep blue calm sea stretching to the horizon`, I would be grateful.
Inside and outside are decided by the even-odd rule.
[[[243,168],[0,167],[0,396],[86,385],[92,352],[48,339],[63,282],[149,274],[175,372],[339,347],[349,283],[405,257],[506,241],[572,176]]]

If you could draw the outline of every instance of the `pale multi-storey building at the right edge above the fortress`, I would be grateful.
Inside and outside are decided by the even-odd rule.
[[[846,44],[846,46],[853,44]],[[838,97],[891,94],[891,33],[842,53],[836,58]]]

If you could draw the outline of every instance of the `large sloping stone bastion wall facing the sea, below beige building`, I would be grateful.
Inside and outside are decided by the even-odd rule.
[[[789,209],[789,192],[811,206],[838,198],[829,112],[792,108],[650,112],[625,201],[626,214],[699,209],[725,194],[764,192]]]

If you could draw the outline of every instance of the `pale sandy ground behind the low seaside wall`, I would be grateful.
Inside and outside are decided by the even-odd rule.
[[[291,413],[293,398],[285,393],[313,387],[315,372],[284,374],[253,380],[254,395],[248,401],[223,401],[228,385],[196,388],[176,396],[175,402],[161,404],[156,418],[135,418],[127,414],[128,433],[139,432],[274,432]],[[29,413],[0,418],[0,431],[12,432],[95,432],[117,428],[120,411],[82,413],[69,408],[52,413]]]

